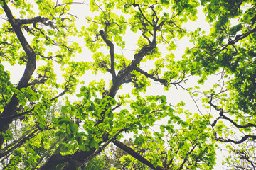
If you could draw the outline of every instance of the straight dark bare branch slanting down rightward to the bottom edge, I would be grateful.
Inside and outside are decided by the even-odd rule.
[[[115,140],[115,141],[113,141],[113,143],[114,143],[114,145],[116,145],[120,149],[122,149],[125,152],[127,152],[128,154],[130,154],[135,159],[138,159],[143,164],[149,166],[151,169],[164,170],[164,167],[161,167],[161,166],[154,167],[153,164],[151,164],[151,162],[149,162],[147,159],[142,157],[142,155],[135,152],[134,149],[132,149],[131,147],[128,147],[127,145],[124,145],[122,142],[119,142],[118,140]]]

